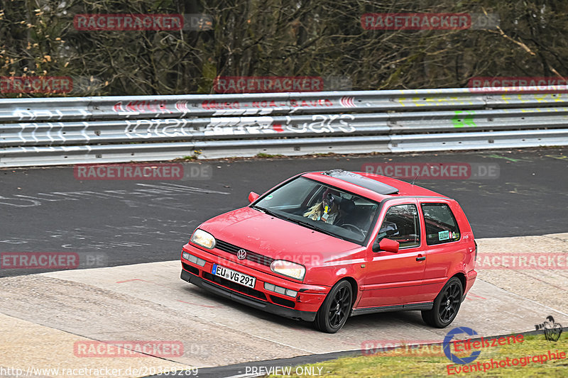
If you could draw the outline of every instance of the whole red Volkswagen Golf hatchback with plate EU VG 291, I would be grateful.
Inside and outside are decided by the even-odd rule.
[[[298,174],[200,225],[181,278],[337,332],[349,316],[420,310],[444,328],[477,273],[471,226],[453,199],[397,179]]]

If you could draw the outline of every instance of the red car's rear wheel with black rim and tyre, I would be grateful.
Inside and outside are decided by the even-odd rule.
[[[422,311],[422,320],[428,326],[446,328],[457,316],[464,289],[457,277],[452,277],[439,291],[431,310]]]

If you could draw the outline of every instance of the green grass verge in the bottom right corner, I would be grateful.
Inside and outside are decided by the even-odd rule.
[[[523,341],[519,343],[481,348],[478,349],[480,350],[479,357],[466,365],[452,363],[444,355],[439,344],[403,345],[389,349],[380,350],[372,355],[344,357],[312,365],[292,367],[288,375],[270,375],[269,377],[526,378],[568,376],[568,341],[565,334],[562,334],[557,342],[546,340],[542,334],[533,334],[525,335]],[[451,351],[458,357],[468,357],[472,352],[472,350],[455,352],[453,345]],[[557,358],[553,359],[552,354]],[[505,366],[499,366],[500,363]]]

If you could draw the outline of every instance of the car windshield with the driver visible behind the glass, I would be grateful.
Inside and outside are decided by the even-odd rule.
[[[298,177],[271,191],[252,207],[364,245],[374,224],[378,204],[348,191]]]

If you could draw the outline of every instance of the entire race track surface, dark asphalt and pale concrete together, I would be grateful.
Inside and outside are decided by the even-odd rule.
[[[245,206],[249,191],[261,193],[298,172],[361,170],[372,162],[468,162],[497,164],[499,175],[416,184],[459,201],[479,239],[480,254],[541,246],[563,252],[568,244],[567,155],[567,148],[548,148],[190,162],[185,166],[211,165],[212,178],[157,182],[80,181],[72,167],[2,169],[0,252],[77,252],[80,268],[100,269],[45,274],[0,269],[5,277],[0,296],[10,304],[0,309],[0,355],[4,352],[4,364],[45,355],[83,366],[85,359],[74,360],[71,352],[76,340],[185,340],[187,352],[170,362],[200,367],[200,377],[228,377],[251,366],[338,357],[359,350],[366,340],[439,342],[447,330],[425,326],[417,311],[357,316],[340,333],[327,335],[310,324],[207,294],[179,279],[180,248],[202,221]],[[505,238],[521,235],[542,236]],[[550,314],[565,325],[565,272],[480,272],[453,325],[486,336],[534,329]],[[222,340],[212,339],[217,330]],[[58,345],[61,352],[48,357],[43,343]],[[124,366],[124,360],[109,359],[108,364]],[[158,358],[143,363],[148,361],[163,364]]]

